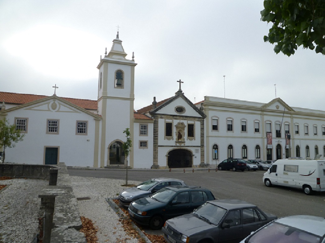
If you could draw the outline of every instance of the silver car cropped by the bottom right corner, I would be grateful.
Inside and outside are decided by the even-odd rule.
[[[309,215],[279,218],[264,225],[240,243],[324,243],[325,219]]]

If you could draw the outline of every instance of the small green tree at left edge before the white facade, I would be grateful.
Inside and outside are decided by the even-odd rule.
[[[8,120],[0,120],[0,147],[3,147],[2,162],[5,163],[5,150],[6,147],[13,148],[16,143],[23,140],[25,134],[16,131],[15,125],[10,125]]]

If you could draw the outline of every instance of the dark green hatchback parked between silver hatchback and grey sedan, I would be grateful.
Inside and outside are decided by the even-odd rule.
[[[214,195],[205,188],[165,187],[150,197],[132,202],[128,211],[130,218],[137,223],[161,229],[167,219],[193,212],[207,200],[214,200]]]

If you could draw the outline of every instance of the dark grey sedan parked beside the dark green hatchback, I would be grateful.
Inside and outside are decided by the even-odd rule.
[[[276,218],[245,201],[213,200],[193,213],[167,220],[162,232],[168,243],[239,242]]]

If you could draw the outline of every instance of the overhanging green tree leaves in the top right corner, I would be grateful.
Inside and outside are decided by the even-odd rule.
[[[324,0],[265,0],[261,20],[273,23],[264,42],[290,56],[298,46],[325,55]]]

